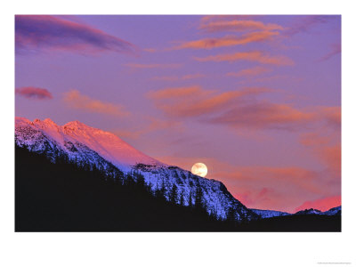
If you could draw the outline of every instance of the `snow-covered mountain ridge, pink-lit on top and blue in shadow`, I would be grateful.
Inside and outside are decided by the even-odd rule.
[[[209,180],[191,174],[177,166],[168,166],[134,149],[115,134],[80,123],[69,122],[56,125],[51,119],[15,119],[15,142],[39,154],[44,154],[55,162],[66,157],[78,166],[91,166],[114,174],[118,170],[126,174],[139,172],[151,190],[164,189],[165,198],[176,189],[182,197],[183,206],[188,206],[190,198],[195,203],[198,192],[208,214],[225,219],[233,214],[236,220],[252,220],[258,217],[233,198],[222,182]]]

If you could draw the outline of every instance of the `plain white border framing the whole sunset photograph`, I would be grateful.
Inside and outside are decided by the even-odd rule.
[[[115,4],[113,4],[115,3]],[[348,3],[352,3],[349,1]],[[13,1],[1,16],[2,266],[318,266],[356,263],[354,256],[355,35],[354,8],[345,1]],[[342,233],[14,233],[13,15],[43,14],[342,14]],[[322,266],[322,265],[321,265]]]

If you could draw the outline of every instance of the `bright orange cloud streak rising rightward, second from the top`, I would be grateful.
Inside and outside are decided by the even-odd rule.
[[[272,31],[260,31],[247,33],[242,36],[224,36],[216,38],[206,38],[197,41],[184,42],[173,49],[211,49],[223,46],[232,46],[239,44],[249,44],[253,42],[262,42],[271,40],[272,36],[278,36],[279,32]]]

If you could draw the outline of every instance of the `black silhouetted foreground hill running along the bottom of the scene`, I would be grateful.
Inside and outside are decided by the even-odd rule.
[[[16,147],[15,231],[341,231],[341,216],[222,222],[130,181]]]

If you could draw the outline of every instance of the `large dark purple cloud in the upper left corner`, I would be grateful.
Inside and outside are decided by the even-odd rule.
[[[134,53],[136,47],[117,36],[111,36],[64,16],[16,15],[16,53],[32,51],[70,51],[75,53]]]

